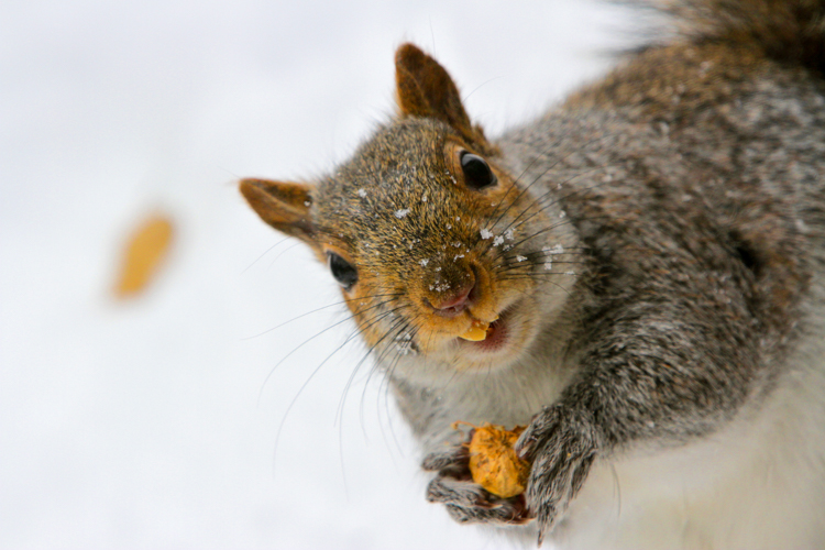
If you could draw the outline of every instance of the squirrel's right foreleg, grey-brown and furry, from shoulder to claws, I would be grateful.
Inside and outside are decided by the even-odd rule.
[[[531,462],[526,496],[539,540],[565,514],[596,459],[712,433],[767,378],[770,365],[755,359],[755,337],[704,329],[713,310],[700,308],[704,317],[692,317],[686,307],[679,315],[647,308],[648,316],[606,322],[592,333],[579,380],[516,442],[516,452]],[[724,320],[715,326],[733,326]]]

